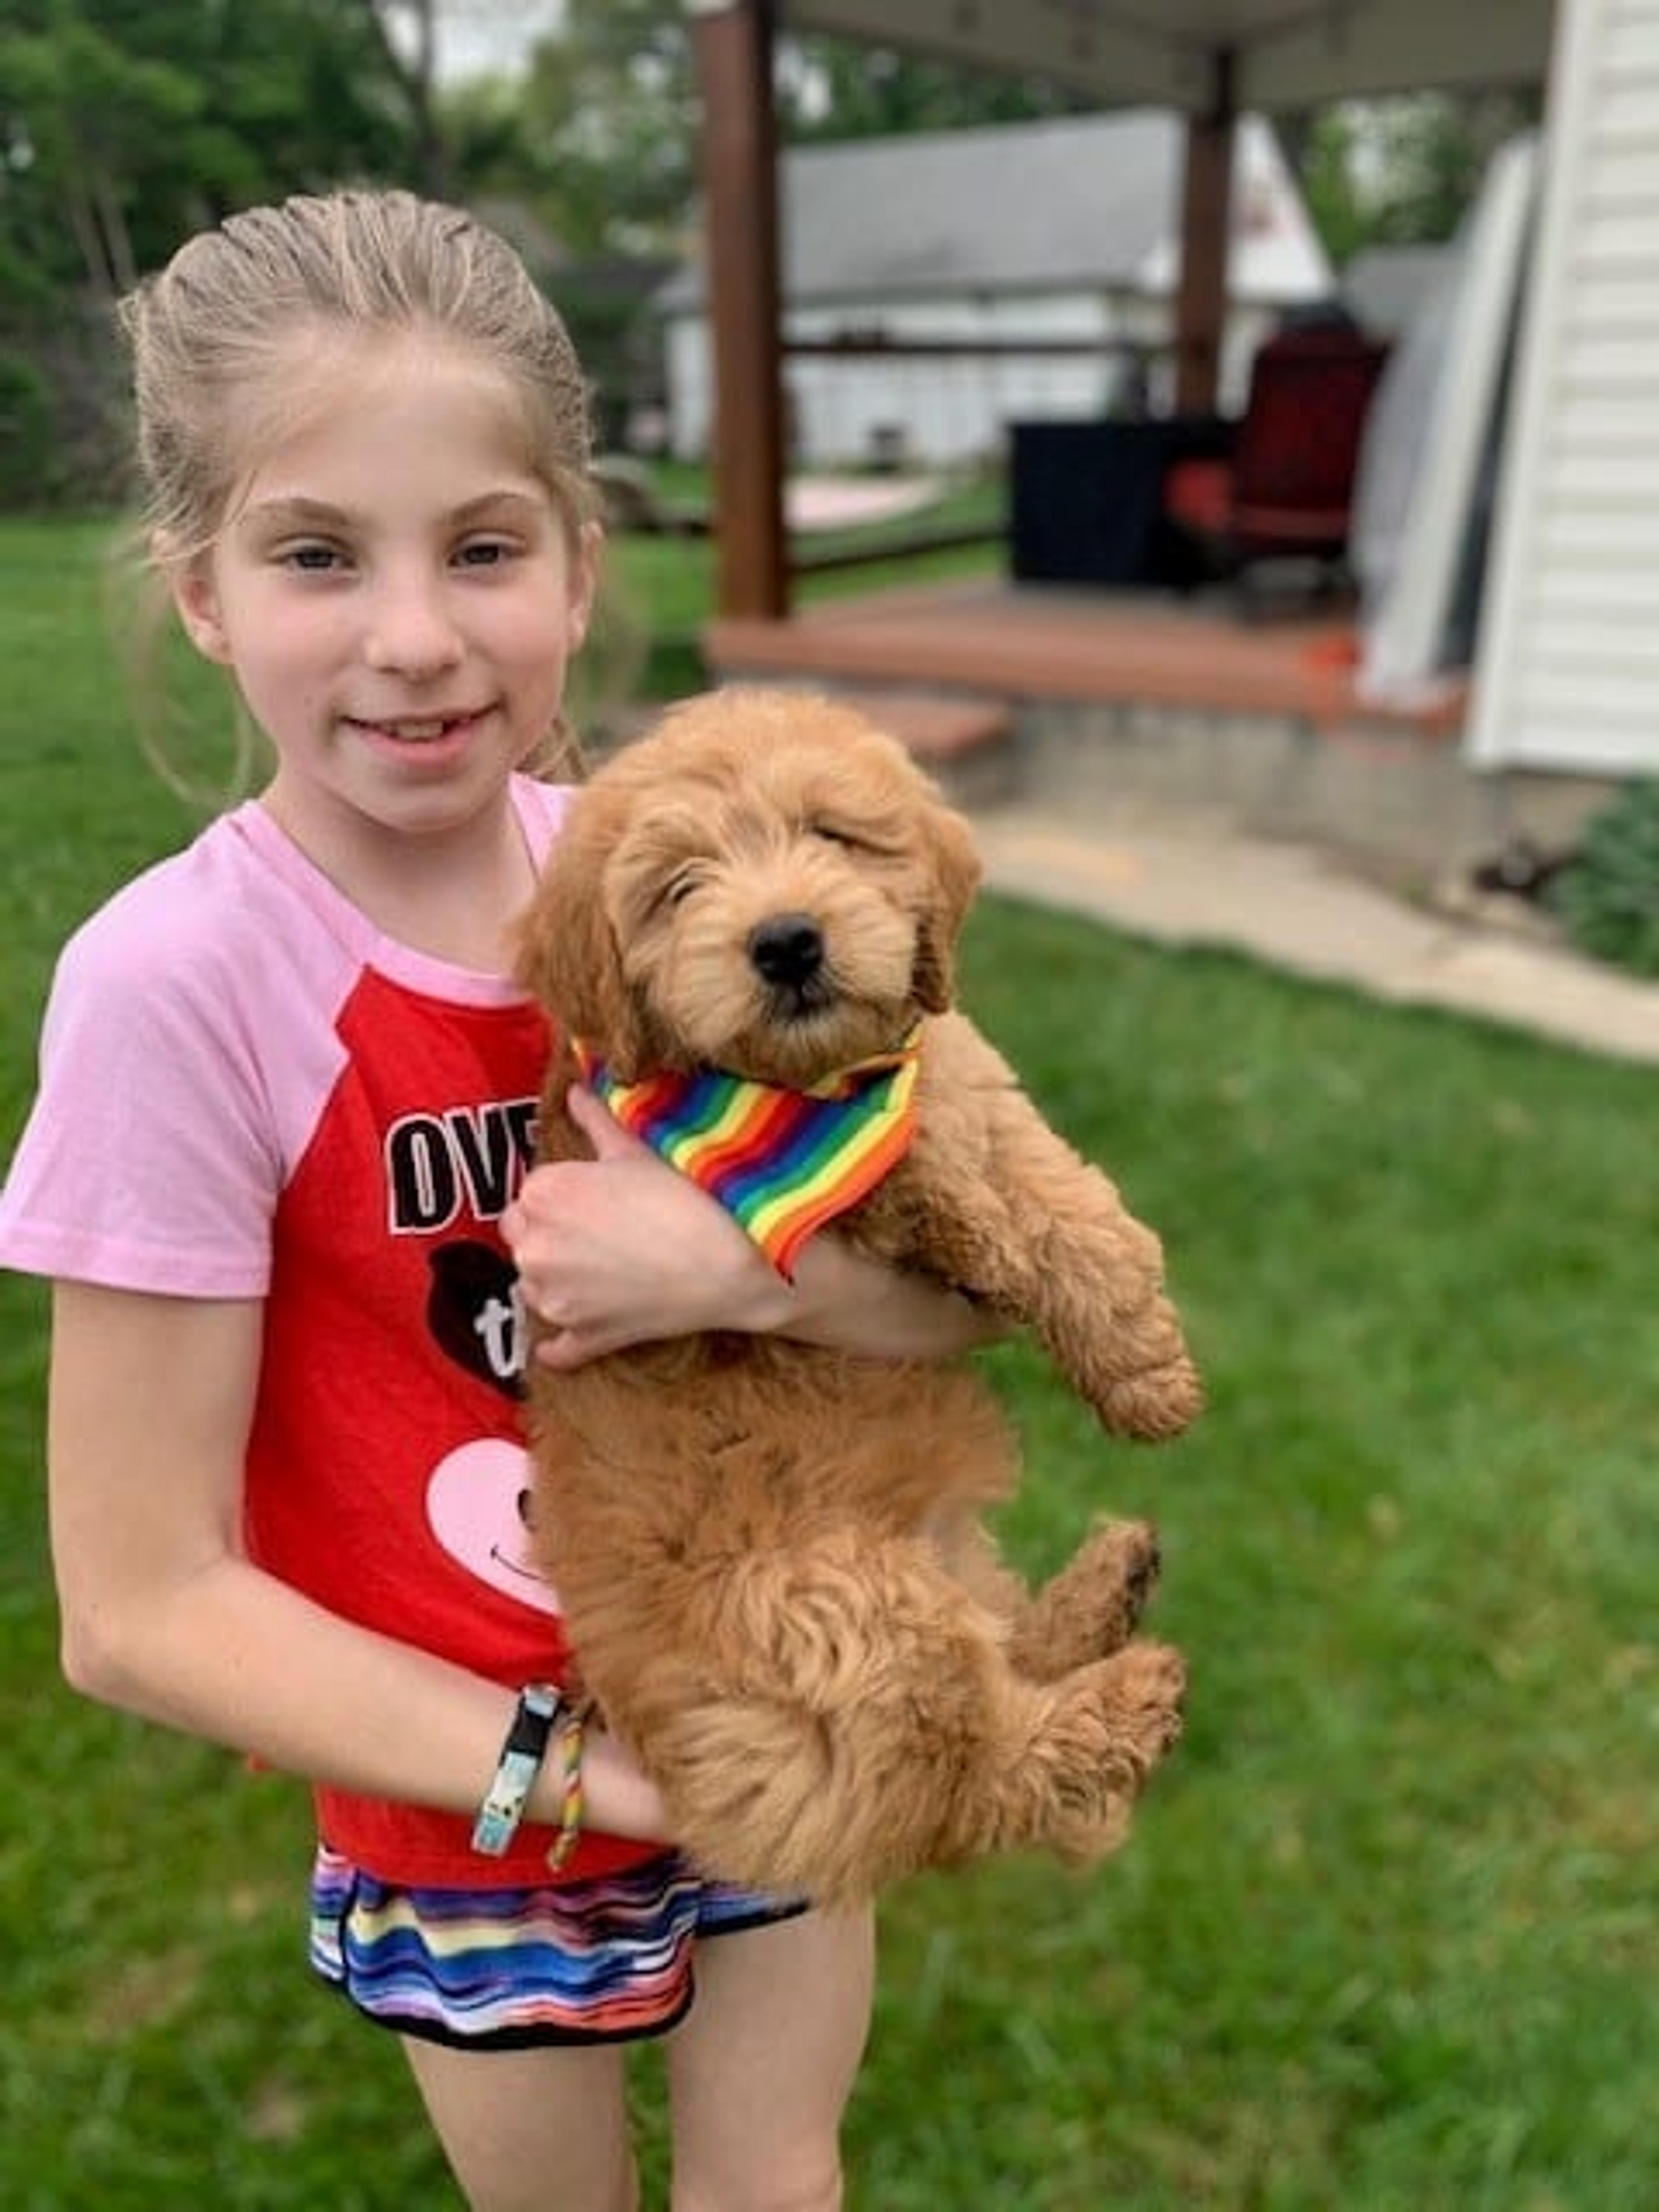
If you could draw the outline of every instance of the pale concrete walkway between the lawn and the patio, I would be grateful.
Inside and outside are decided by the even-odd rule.
[[[1011,896],[1659,1064],[1659,982],[1564,951],[1524,914],[1438,914],[1316,847],[1168,816],[1084,834],[1053,810],[1002,803],[975,810],[973,825],[989,885]]]

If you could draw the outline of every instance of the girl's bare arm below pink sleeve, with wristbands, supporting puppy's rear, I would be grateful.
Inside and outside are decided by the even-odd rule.
[[[49,1478],[64,1672],[272,1767],[476,1812],[513,1694],[325,1613],[241,1548],[261,1354],[254,1301],[60,1283]],[[584,1765],[593,1827],[659,1836],[655,1790],[611,1739]],[[557,1778],[531,1816],[557,1820]]]

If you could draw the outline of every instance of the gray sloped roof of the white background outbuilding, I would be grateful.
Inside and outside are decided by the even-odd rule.
[[[1186,131],[1164,108],[936,131],[781,157],[783,285],[792,305],[927,292],[1144,290],[1179,237]],[[1279,144],[1239,126],[1248,190],[1290,192]],[[659,294],[701,303],[701,272]]]

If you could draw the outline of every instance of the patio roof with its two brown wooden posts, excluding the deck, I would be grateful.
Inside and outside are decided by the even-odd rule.
[[[792,606],[779,148],[779,29],[1026,73],[1099,106],[1186,122],[1175,411],[1217,400],[1239,115],[1442,86],[1540,84],[1553,0],[686,0],[703,102],[703,239],[714,345],[721,615]],[[1018,190],[1020,179],[1009,179]]]

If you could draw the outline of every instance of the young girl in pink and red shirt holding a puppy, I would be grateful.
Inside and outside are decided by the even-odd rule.
[[[0,1201],[0,1261],[53,1279],[66,1674],[312,1778],[312,1960],[405,2037],[471,2205],[635,2205],[619,2044],[668,2031],[679,2212],[834,2205],[867,1916],[699,1882],[602,1734],[535,1763],[568,1655],[509,1248],[555,1363],[975,1323],[834,1237],[783,1285],[586,1097],[595,1164],[524,1177],[509,933],[562,807],[526,765],[597,522],[515,257],[400,192],[290,199],[124,321],[153,560],[274,770],[64,951]]]

